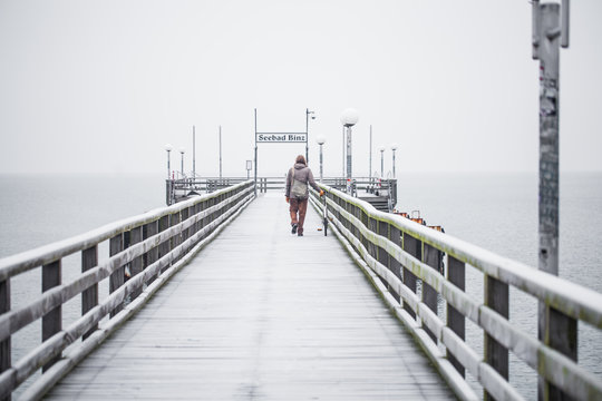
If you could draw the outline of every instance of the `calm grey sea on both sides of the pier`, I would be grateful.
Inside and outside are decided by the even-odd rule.
[[[419,211],[427,224],[441,225],[448,235],[537,267],[536,174],[402,174],[398,178],[398,209]],[[0,185],[0,257],[165,205],[165,180],[152,175],[4,175]],[[561,175],[560,196],[560,276],[602,292],[602,173]],[[65,282],[78,274],[71,268],[78,266],[77,258],[64,261]],[[13,283],[12,306],[22,302],[25,293],[39,294],[40,286],[39,271]],[[470,296],[483,300],[483,276],[474,268],[467,268],[466,286]],[[77,319],[78,302],[64,309],[64,325]],[[509,314],[514,324],[536,336],[534,299],[511,288]],[[483,334],[470,322],[467,342],[483,349]],[[39,343],[39,327],[21,330],[13,338],[13,361]],[[586,325],[580,325],[579,360],[602,379],[602,338]],[[511,383],[525,398],[536,398],[533,370],[512,353]]]

